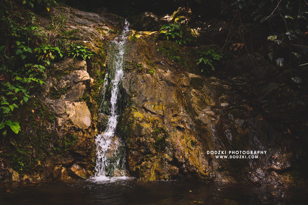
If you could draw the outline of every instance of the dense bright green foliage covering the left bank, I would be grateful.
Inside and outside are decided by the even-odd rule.
[[[63,56],[58,47],[46,45],[46,30],[35,23],[35,15],[27,11],[27,17],[32,20],[28,21],[22,17],[25,11],[17,8],[13,2],[4,1],[0,11],[3,28],[0,34],[0,130],[3,136],[11,134],[9,130],[19,132],[19,122],[12,119],[12,114],[28,102],[34,87],[45,83],[51,61]]]

